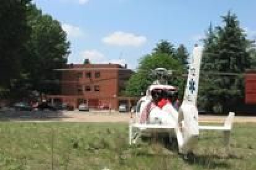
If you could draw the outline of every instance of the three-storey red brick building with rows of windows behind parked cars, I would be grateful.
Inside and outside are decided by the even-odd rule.
[[[120,103],[130,108],[135,98],[121,97],[124,83],[133,71],[117,64],[67,65],[57,69],[61,73],[61,94],[48,95],[51,102],[64,102],[75,108],[87,103],[89,108],[117,109]]]

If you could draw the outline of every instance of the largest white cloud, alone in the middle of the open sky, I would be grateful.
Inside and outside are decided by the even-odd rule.
[[[145,36],[137,36],[132,33],[116,31],[102,39],[105,44],[113,46],[135,46],[139,47],[147,41]]]

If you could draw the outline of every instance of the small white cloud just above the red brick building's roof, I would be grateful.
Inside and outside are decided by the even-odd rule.
[[[82,59],[89,59],[91,62],[102,62],[106,60],[105,55],[95,49],[82,51],[80,55]]]

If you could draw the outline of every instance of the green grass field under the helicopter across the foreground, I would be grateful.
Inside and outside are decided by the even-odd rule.
[[[221,133],[202,132],[184,158],[163,138],[129,147],[127,124],[1,122],[0,169],[256,169],[255,129],[234,124],[229,148]]]

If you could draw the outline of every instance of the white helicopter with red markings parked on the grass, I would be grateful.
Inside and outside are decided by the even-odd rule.
[[[163,100],[161,106],[159,93],[174,94],[176,87],[162,84],[161,78],[148,87],[146,95],[137,103],[135,116],[129,122],[129,145],[135,144],[143,132],[169,132],[169,137],[176,136],[180,153],[189,153],[195,148],[201,130],[223,131],[224,144],[228,145],[232,129],[234,113],[229,112],[223,126],[200,126],[198,124],[197,91],[200,76],[200,63],[202,59],[202,47],[195,46],[187,76],[187,84],[184,99],[179,110],[176,110],[168,99]],[[166,70],[158,68],[156,73],[163,75]],[[163,95],[161,95],[163,97]],[[167,97],[168,98],[168,97]]]

